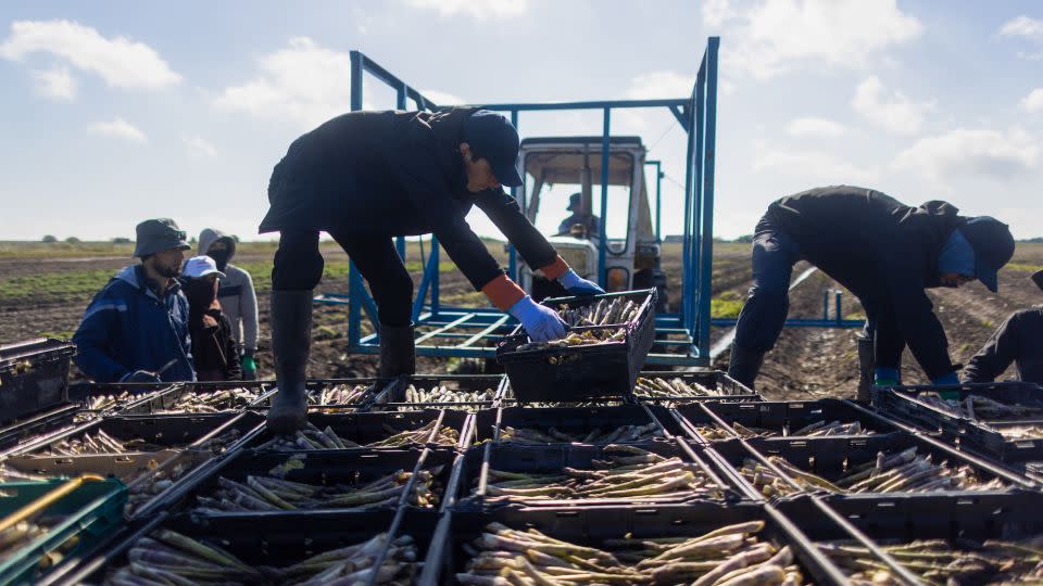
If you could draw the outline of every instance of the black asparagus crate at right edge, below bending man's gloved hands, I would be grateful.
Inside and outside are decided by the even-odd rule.
[[[1043,460],[1043,386],[967,384],[878,390],[881,409],[1004,461]]]

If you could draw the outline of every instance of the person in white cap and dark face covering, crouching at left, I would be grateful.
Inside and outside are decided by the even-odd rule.
[[[239,346],[231,335],[231,322],[217,303],[218,279],[214,259],[202,255],[185,263],[181,284],[188,297],[188,331],[192,336],[196,375],[201,381],[240,381]]]

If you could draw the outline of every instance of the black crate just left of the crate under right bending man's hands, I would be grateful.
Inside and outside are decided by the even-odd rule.
[[[831,436],[860,436],[908,431],[887,417],[842,399],[758,403],[701,402],[674,408],[689,423],[692,437],[701,442],[733,437],[815,437],[794,435],[816,423],[858,423],[860,433],[830,433]],[[751,433],[755,435],[751,435]]]

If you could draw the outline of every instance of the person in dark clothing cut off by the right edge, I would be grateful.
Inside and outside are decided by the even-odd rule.
[[[1043,270],[1032,280],[1043,289]],[[992,382],[1010,362],[1018,368],[1018,380],[1043,383],[1043,305],[1010,314],[970,359],[964,382]]]

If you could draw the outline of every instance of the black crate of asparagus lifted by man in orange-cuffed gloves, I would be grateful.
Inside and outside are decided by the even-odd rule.
[[[567,335],[533,342],[519,328],[497,347],[497,360],[522,402],[581,402],[629,396],[655,339],[654,289],[543,305],[569,326]]]

